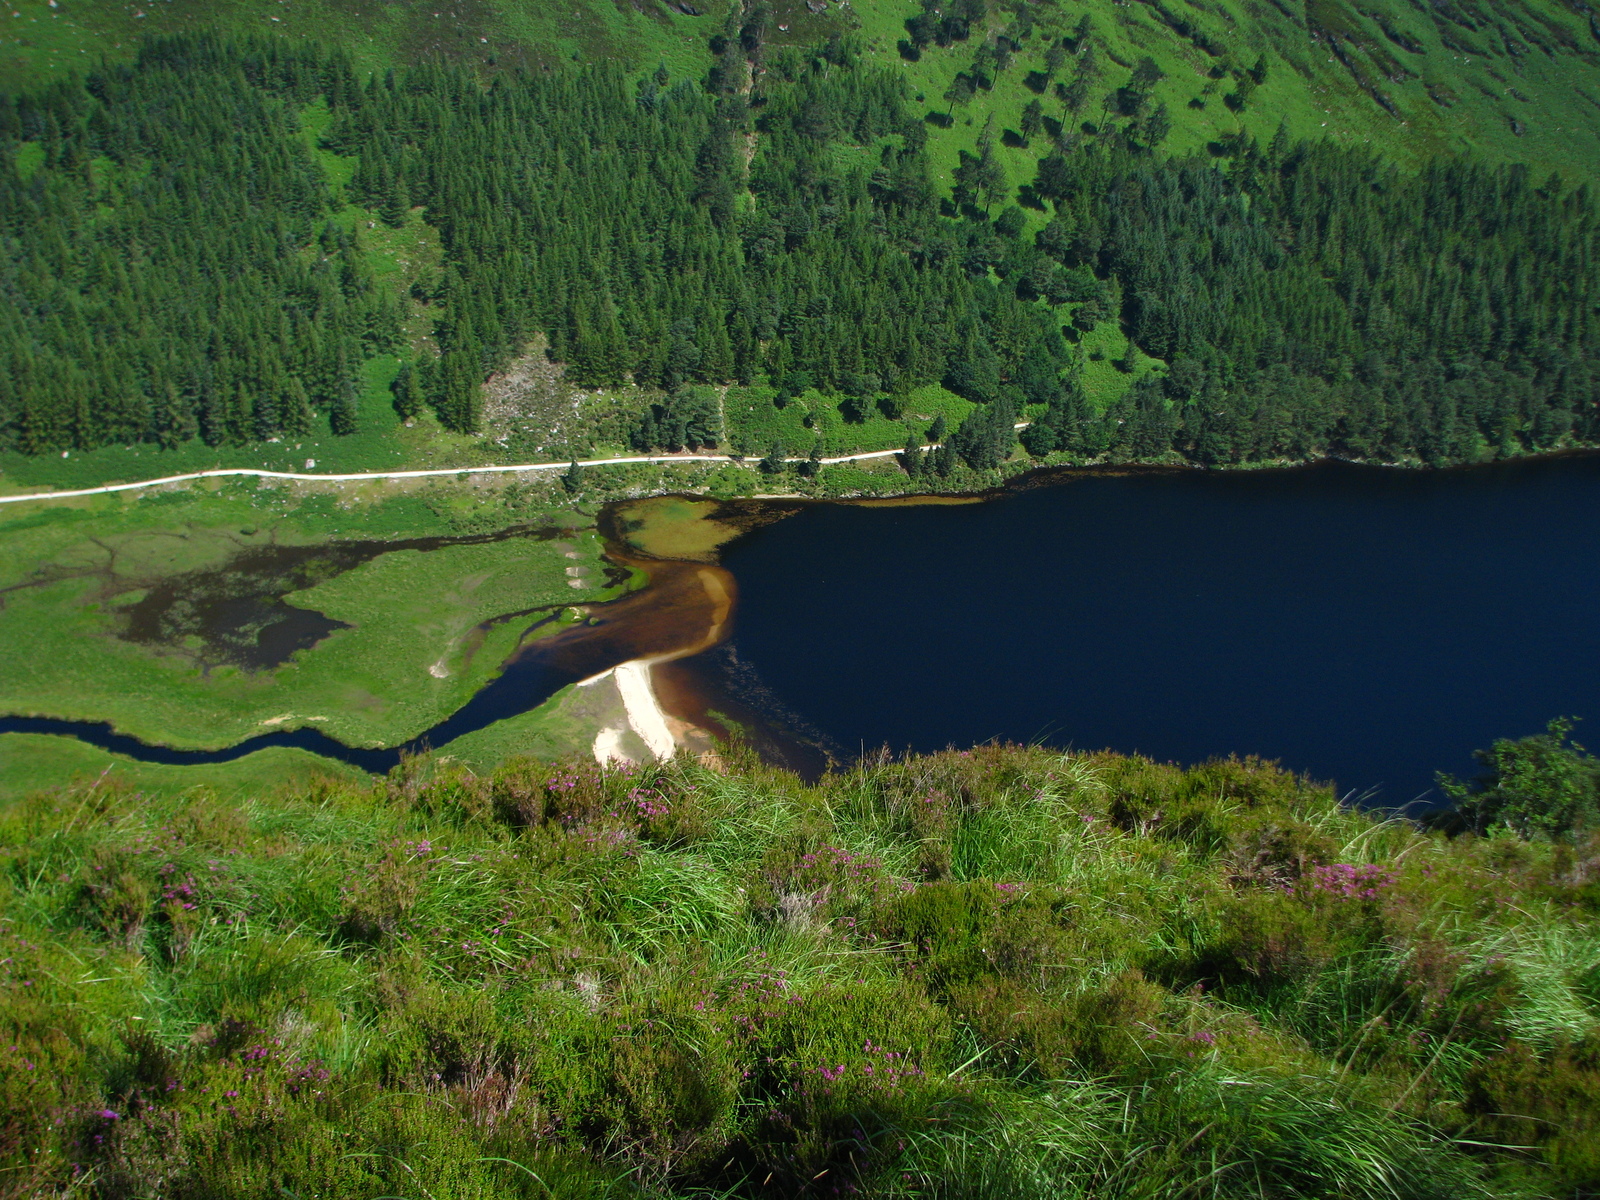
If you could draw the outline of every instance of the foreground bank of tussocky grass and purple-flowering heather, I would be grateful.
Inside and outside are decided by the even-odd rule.
[[[1595,843],[1254,762],[426,760],[0,813],[21,1194],[1600,1182]]]

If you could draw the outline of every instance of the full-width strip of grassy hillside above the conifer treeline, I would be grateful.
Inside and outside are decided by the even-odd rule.
[[[917,0],[829,3],[822,13],[805,0],[770,0],[765,8],[770,45],[805,46],[854,32],[874,58],[906,74],[933,114],[949,110],[942,96],[984,40],[1006,37],[1014,51],[994,86],[955,114],[954,128],[934,134],[949,147],[950,165],[954,147],[971,141],[970,131],[963,136],[968,122],[981,128],[992,115],[1002,130],[1018,131],[1035,96],[1046,117],[1062,115],[1053,85],[1074,78],[1077,59],[1051,72],[1046,51],[1051,42],[1075,38],[1085,16],[1099,62],[1077,120],[1094,122],[1104,96],[1149,56],[1166,75],[1155,94],[1173,120],[1173,152],[1240,130],[1267,139],[1285,122],[1298,138],[1371,144],[1411,163],[1475,150],[1594,176],[1600,162],[1600,27],[1576,0],[992,3],[966,38],[930,45],[915,62],[899,43],[907,40],[904,22],[922,11]],[[341,45],[370,70],[442,58],[493,74],[606,58],[702,75],[710,64],[706,45],[726,19],[725,0],[16,0],[0,14],[0,90],[126,58],[141,35],[200,29]],[[1264,82],[1235,110],[1227,96],[1238,94],[1238,75],[1261,61]],[[1013,163],[1014,182],[1026,182],[1032,158],[1018,154]]]

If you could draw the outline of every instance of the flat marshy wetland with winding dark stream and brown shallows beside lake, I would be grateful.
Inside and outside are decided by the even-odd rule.
[[[451,510],[437,496],[434,507],[390,498],[341,525],[338,509],[243,486],[152,496],[99,520],[70,509],[13,520],[0,624],[42,653],[13,658],[0,734],[67,734],[166,766],[299,750],[382,773],[445,746],[478,762],[587,749],[597,731],[616,754],[650,757],[621,678],[541,706],[619,664],[714,645],[731,578],[693,547],[670,547],[688,560],[635,549],[610,512],[598,526],[570,509],[506,525],[496,504],[530,514],[461,499]],[[262,522],[262,507],[285,510]],[[400,536],[352,538],[350,523]],[[624,523],[642,538],[667,525]],[[418,536],[462,525],[490,528]],[[654,707],[648,669],[635,674]],[[707,726],[725,731],[658,720],[670,728],[656,752],[709,750]]]

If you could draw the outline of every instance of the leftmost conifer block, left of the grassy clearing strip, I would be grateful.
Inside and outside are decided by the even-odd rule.
[[[357,368],[400,312],[326,226],[293,136],[293,104],[338,78],[309,54],[202,64],[166,43],[0,101],[6,446],[354,430]]]

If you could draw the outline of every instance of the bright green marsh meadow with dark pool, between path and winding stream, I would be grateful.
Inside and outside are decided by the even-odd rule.
[[[5,517],[0,637],[29,651],[0,666],[0,710],[166,746],[301,725],[403,742],[541,621],[616,592],[594,530],[517,488],[341,506],[232,486]],[[446,542],[408,546],[427,538]],[[323,622],[298,650],[272,640],[306,611],[344,627]]]

